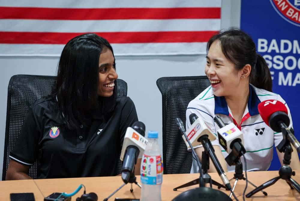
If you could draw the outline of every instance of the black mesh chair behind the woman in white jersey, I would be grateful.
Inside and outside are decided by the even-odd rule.
[[[206,76],[161,77],[156,81],[163,103],[164,174],[190,173],[192,153],[182,139],[175,118],[185,123],[187,105],[210,85]]]

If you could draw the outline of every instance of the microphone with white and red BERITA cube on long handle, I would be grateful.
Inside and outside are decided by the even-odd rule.
[[[212,134],[210,129],[208,129],[208,126],[205,124],[205,122],[202,119],[198,118],[198,116],[196,114],[194,114],[194,113],[190,114],[189,119],[190,119],[191,127],[187,130],[187,132],[189,132],[188,134],[190,135],[190,139],[192,139],[194,137],[195,139],[197,139],[196,140],[198,142],[197,145],[199,145],[199,144],[203,145],[205,152],[211,158],[211,161],[214,164],[214,167],[216,168],[217,173],[219,174],[219,176],[222,179],[223,183],[225,184],[226,188],[228,190],[231,190],[231,185],[229,183],[229,180],[228,180],[219,160],[217,159],[217,156],[214,153],[214,148],[210,141],[210,139],[215,140],[216,137],[214,136],[214,134]],[[193,129],[195,129],[194,135],[192,132]],[[199,131],[199,132],[197,132],[197,131]],[[198,135],[196,135],[196,134],[198,134]],[[192,144],[192,146],[193,146],[193,144]]]

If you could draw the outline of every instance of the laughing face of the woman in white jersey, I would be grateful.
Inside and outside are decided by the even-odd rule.
[[[241,81],[242,70],[236,70],[222,52],[220,41],[214,41],[206,56],[205,74],[211,82],[216,96],[236,94]]]

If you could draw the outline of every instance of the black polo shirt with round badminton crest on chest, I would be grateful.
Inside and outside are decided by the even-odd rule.
[[[94,116],[79,131],[58,125],[56,106],[55,100],[41,98],[29,107],[10,158],[25,165],[38,158],[40,179],[115,176],[126,129],[138,121],[133,101],[117,97],[108,121]]]

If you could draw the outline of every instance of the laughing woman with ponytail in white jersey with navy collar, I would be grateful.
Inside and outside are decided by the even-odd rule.
[[[247,170],[268,170],[273,157],[273,146],[283,139],[281,133],[276,133],[268,127],[260,117],[257,105],[265,100],[274,99],[285,104],[280,95],[272,93],[271,74],[264,58],[256,53],[256,47],[249,35],[239,29],[230,29],[214,35],[207,44],[205,74],[211,86],[192,100],[186,111],[186,127],[190,127],[189,116],[195,113],[202,118],[214,134],[219,127],[214,122],[216,115],[225,124],[234,123],[243,133]],[[219,146],[218,140],[211,142],[215,154],[225,172],[234,171],[234,166],[227,166],[225,157],[228,155]],[[202,146],[195,147],[201,160]],[[293,148],[290,166],[300,170],[300,162]],[[282,164],[284,153],[277,150]],[[242,163],[244,160],[241,160]],[[210,161],[208,172],[216,172]],[[199,172],[193,161],[191,173]]]

